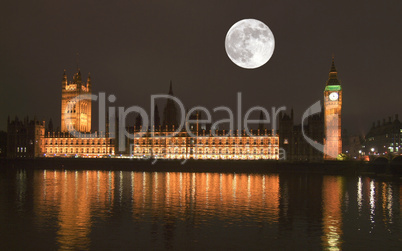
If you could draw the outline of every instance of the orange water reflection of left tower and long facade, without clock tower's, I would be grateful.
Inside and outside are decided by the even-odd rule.
[[[35,223],[46,227],[56,220],[60,249],[90,248],[94,217],[106,220],[114,208],[127,205],[134,221],[169,217],[199,225],[211,217],[279,217],[276,174],[46,170],[35,172],[34,182]]]

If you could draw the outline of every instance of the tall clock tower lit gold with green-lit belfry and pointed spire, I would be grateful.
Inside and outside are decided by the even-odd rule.
[[[324,159],[331,160],[336,159],[338,154],[342,153],[342,87],[338,80],[333,56],[329,78],[324,90],[324,109]]]

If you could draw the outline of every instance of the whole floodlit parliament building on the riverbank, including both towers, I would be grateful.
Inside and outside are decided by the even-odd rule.
[[[264,125],[257,130],[228,132],[225,130],[212,133],[208,125],[198,123],[200,113],[190,115],[191,121],[197,121],[177,133],[177,108],[172,100],[167,100],[163,109],[162,121],[156,107],[154,127],[148,128],[141,137],[125,138],[124,151],[118,146],[118,134],[115,132],[92,132],[92,101],[77,100],[82,94],[92,93],[92,83],[88,74],[86,82],[79,69],[72,80],[64,71],[61,81],[61,128],[54,130],[52,122],[8,119],[7,157],[128,157],[153,159],[215,159],[215,160],[258,160],[280,158],[280,149],[284,150],[288,160],[320,161],[330,159],[329,155],[314,149],[302,138],[301,126],[294,125],[293,111],[290,115],[281,114],[279,133],[272,135]],[[170,83],[169,95],[173,95]],[[320,114],[310,116],[306,132],[310,138],[326,144],[325,153],[332,151],[332,156],[342,152],[341,143],[341,107],[342,89],[337,79],[337,71],[332,60],[329,79],[324,91],[324,109]],[[135,126],[126,130],[135,133],[141,129],[141,118],[137,117]],[[304,126],[304,125],[302,125]],[[71,133],[72,129],[74,130]]]

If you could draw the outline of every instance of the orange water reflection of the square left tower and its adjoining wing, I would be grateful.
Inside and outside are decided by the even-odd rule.
[[[114,174],[99,171],[62,174],[62,171],[49,170],[36,173],[35,183],[40,187],[34,193],[37,224],[46,225],[47,219],[57,218],[56,239],[60,249],[87,249],[92,206],[102,202],[104,211],[112,207],[114,179],[110,176]]]

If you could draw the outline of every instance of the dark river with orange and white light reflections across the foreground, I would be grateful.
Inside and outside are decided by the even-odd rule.
[[[3,169],[0,249],[400,249],[402,182]]]

